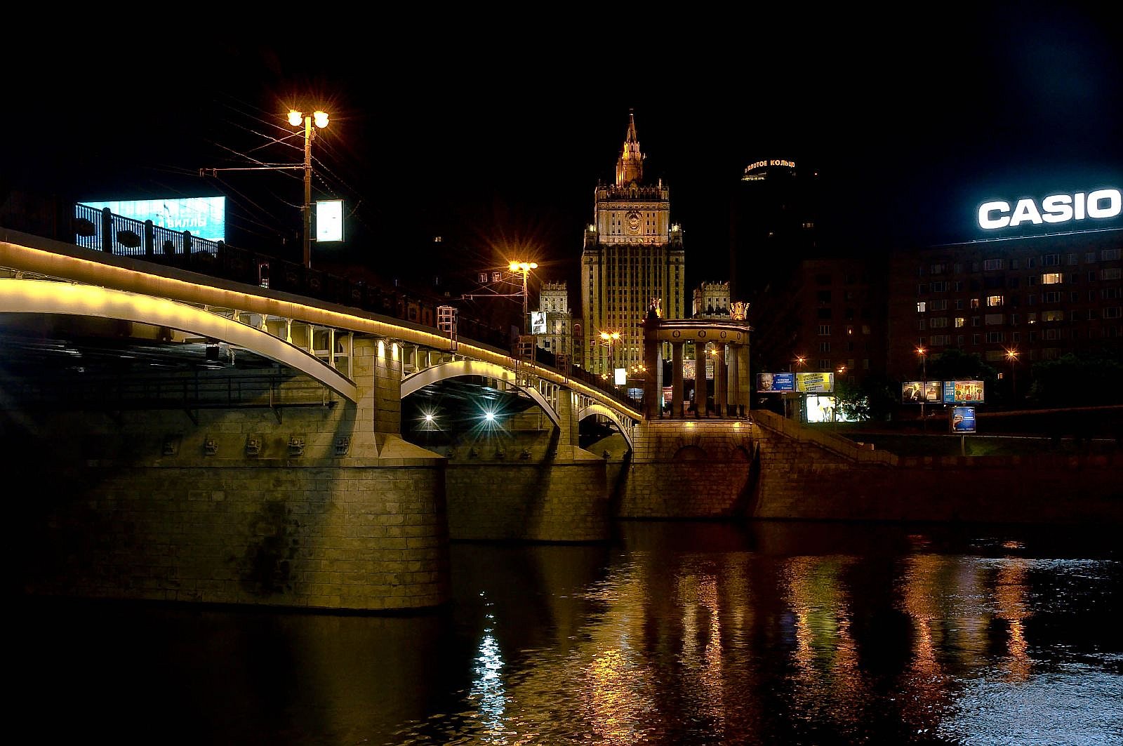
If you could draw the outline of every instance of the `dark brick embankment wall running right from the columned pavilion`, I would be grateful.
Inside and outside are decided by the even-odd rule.
[[[1123,522],[1123,457],[897,458],[754,412],[760,433],[755,518]]]

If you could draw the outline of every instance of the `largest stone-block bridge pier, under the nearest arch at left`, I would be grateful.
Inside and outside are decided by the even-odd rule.
[[[37,477],[13,495],[27,592],[368,610],[448,599],[445,460],[356,437],[350,404],[283,422],[268,409],[10,422],[7,453]]]

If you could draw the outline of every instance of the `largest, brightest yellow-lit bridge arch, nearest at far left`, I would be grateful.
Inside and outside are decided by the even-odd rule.
[[[179,301],[48,280],[0,280],[0,312],[65,313],[164,326],[245,347],[293,367],[339,395],[358,401],[355,383],[318,357],[273,335]]]

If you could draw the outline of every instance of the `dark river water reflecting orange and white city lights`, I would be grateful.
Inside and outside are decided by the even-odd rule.
[[[368,616],[18,598],[38,743],[1120,744],[1110,530],[627,522]],[[12,690],[10,690],[12,691]]]

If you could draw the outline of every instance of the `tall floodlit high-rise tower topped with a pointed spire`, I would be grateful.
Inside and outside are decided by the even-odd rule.
[[[664,318],[685,318],[683,231],[670,222],[670,190],[663,180],[643,183],[643,157],[629,112],[617,180],[596,184],[581,254],[585,367],[594,373],[642,362],[643,319],[652,302]]]

